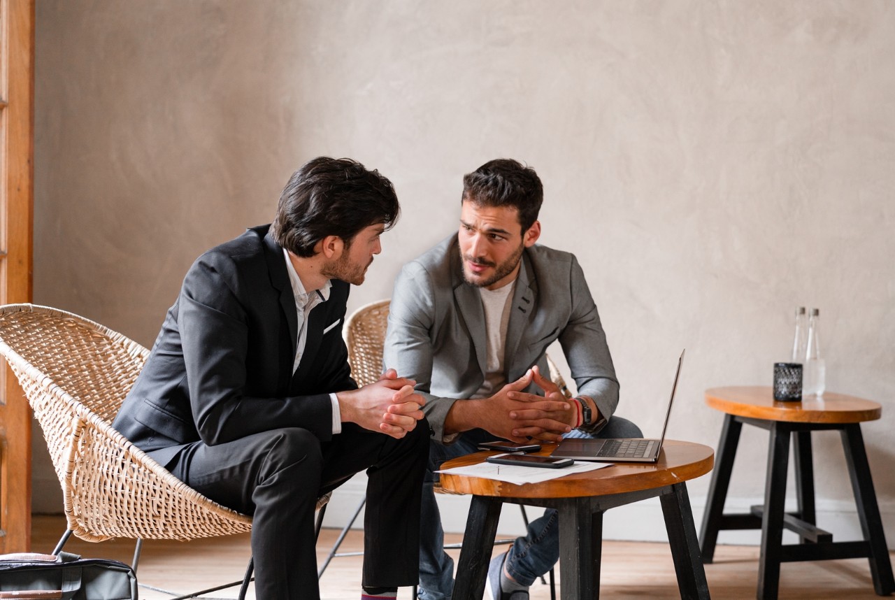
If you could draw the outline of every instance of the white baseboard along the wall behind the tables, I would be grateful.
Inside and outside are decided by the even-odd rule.
[[[329,501],[329,508],[323,519],[323,526],[345,527],[358,503],[364,497],[365,491],[366,480],[360,477],[354,478],[338,488],[333,493],[332,500]],[[470,496],[438,494],[437,498],[439,508],[441,509],[441,522],[445,531],[448,533],[463,533],[466,527],[466,515],[469,511]],[[691,498],[690,501],[698,535],[705,509],[704,499]],[[763,499],[729,498],[725,503],[725,511],[748,512],[750,506],[761,503],[763,503]],[[795,507],[792,508],[794,509]],[[895,510],[893,510],[893,507],[887,506],[881,506],[880,510],[882,511],[882,524],[886,542],[890,550],[895,550]],[[526,507],[526,512],[529,519],[536,519],[541,516],[543,510]],[[354,523],[353,528],[363,527],[362,514]],[[836,541],[863,538],[855,506],[848,502],[818,501],[817,523],[818,527],[831,532],[833,540]],[[501,537],[517,536],[524,532],[520,511],[512,506],[507,506],[500,514],[498,532]],[[659,499],[652,498],[609,510],[603,517],[603,539],[638,542],[668,541]],[[795,534],[784,531],[784,544],[795,544],[797,541],[798,538]],[[719,544],[757,545],[760,542],[761,532],[757,529],[721,531],[718,536]]]

